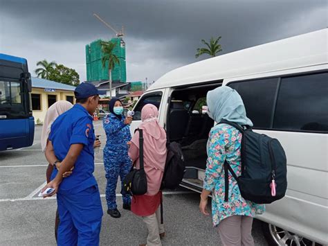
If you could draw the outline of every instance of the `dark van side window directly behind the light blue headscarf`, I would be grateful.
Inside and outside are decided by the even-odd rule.
[[[268,78],[229,84],[242,96],[246,114],[253,121],[254,128],[271,128],[277,81],[278,78]]]

